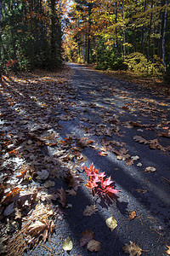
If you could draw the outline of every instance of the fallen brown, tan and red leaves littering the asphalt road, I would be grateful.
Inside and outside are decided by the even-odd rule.
[[[105,94],[106,90],[110,90],[105,84],[102,86],[103,89],[96,90],[100,96]],[[0,217],[3,220],[6,217],[11,218],[10,223],[13,218],[16,223],[19,222],[19,219],[21,221],[20,231],[16,230],[16,235],[11,236],[8,241],[8,251],[19,252],[21,244],[24,252],[24,248],[28,248],[29,244],[37,245],[41,240],[48,241],[48,238],[52,236],[55,223],[54,216],[62,221],[65,218],[65,212],[70,211],[71,207],[68,206],[71,204],[66,206],[67,195],[68,197],[74,195],[75,200],[77,200],[79,189],[82,190],[82,185],[86,182],[84,172],[80,169],[80,172],[76,170],[76,166],[81,166],[88,160],[83,154],[84,149],[89,148],[98,151],[101,156],[105,156],[105,159],[109,159],[113,155],[115,160],[123,161],[122,165],[125,165],[125,169],[130,170],[128,168],[135,165],[134,161],[140,159],[143,163],[139,152],[132,152],[132,148],[129,148],[127,144],[127,129],[132,129],[132,131],[137,132],[137,135],[133,136],[135,142],[148,145],[149,150],[159,149],[168,154],[169,148],[167,145],[162,146],[163,141],[161,140],[161,137],[162,139],[169,137],[167,113],[161,110],[161,107],[166,105],[161,105],[159,102],[153,102],[142,97],[140,99],[133,98],[126,91],[114,90],[114,96],[123,102],[122,107],[120,107],[121,113],[119,113],[115,108],[117,99],[114,96],[105,99],[105,103],[111,103],[109,108],[99,107],[99,99],[95,91],[90,93],[90,103],[77,101],[77,92],[67,83],[66,79],[60,79],[58,75],[39,79],[38,83],[33,77],[29,82],[20,79],[17,90],[22,92],[26,102],[22,101],[20,95],[16,97],[7,86],[6,88],[2,87],[1,94],[3,98],[8,99],[8,103],[6,105],[0,103],[1,107],[3,106],[1,118],[4,119],[4,127],[2,126],[3,129],[0,132],[2,142],[0,152],[2,153],[1,162],[5,163],[1,167],[3,183],[0,186],[0,195],[2,195],[3,210],[0,212]],[[112,88],[111,92],[113,93]],[[20,110],[16,115],[15,111],[11,112],[11,108],[17,107],[17,102],[22,103],[20,103]],[[96,121],[94,117],[90,119],[89,114],[88,117],[85,116],[89,110],[95,114],[95,118],[99,121]],[[22,113],[24,114],[22,115]],[[161,121],[156,122],[156,115],[160,116]],[[128,121],[122,120],[126,116],[128,116]],[[144,121],[140,118],[144,118]],[[149,123],[145,122],[147,118]],[[76,119],[81,119],[81,123],[76,126],[78,127],[77,131],[78,129],[82,130],[83,135],[78,134],[77,131],[71,132],[71,134],[68,134],[68,131],[65,133],[65,124],[74,122]],[[145,135],[141,136],[144,131],[152,131],[155,136],[157,133],[158,137],[152,136],[150,139],[145,139]],[[88,164],[89,162],[86,163],[86,165]],[[136,165],[142,166],[139,162]],[[82,168],[82,170],[84,169]],[[94,195],[97,196],[93,196],[91,206],[82,208],[84,209],[82,218],[83,215],[87,216],[84,217],[87,219],[99,216],[100,208],[96,201],[98,195],[103,198],[104,195],[112,196],[119,192],[111,181],[114,172],[110,172],[111,177],[108,177],[107,170],[103,171],[105,172],[99,172],[99,169],[95,169],[92,164],[85,168],[88,175],[86,187],[94,189]],[[147,172],[156,171],[147,169]],[[8,183],[6,183],[7,181]],[[62,181],[62,185],[58,184],[60,181]],[[68,189],[65,181],[70,189]],[[146,190],[141,189],[141,191]],[[89,196],[91,195],[89,193]],[[67,200],[69,201],[69,199]],[[36,207],[37,201],[42,203],[41,207]],[[58,205],[54,206],[56,203]],[[42,212],[40,208],[42,208]],[[128,216],[126,218],[128,219]],[[130,214],[129,218],[135,218],[135,214]],[[106,225],[113,231],[117,226],[116,219],[108,218]],[[20,243],[26,236],[29,236],[29,239],[26,239],[24,244]],[[89,235],[89,237],[91,236]],[[99,251],[102,241],[100,243],[91,238],[86,238],[84,235],[84,240],[90,239],[88,250],[90,252]],[[6,241],[3,242],[3,244],[5,243]],[[69,243],[71,241],[68,241]],[[128,253],[141,253],[142,251],[133,242],[130,242],[126,250]]]

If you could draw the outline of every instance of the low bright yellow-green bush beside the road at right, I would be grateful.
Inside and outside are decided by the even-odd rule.
[[[147,61],[146,57],[139,53],[133,52],[126,56],[126,61],[128,69],[134,73],[144,74],[144,75],[161,75],[165,68],[160,58],[155,56],[154,62]]]

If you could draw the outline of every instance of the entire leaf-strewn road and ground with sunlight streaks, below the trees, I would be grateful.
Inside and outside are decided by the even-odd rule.
[[[161,255],[169,242],[169,102],[70,67],[3,77],[3,251]]]

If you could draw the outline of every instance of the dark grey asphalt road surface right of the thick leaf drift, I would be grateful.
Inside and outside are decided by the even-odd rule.
[[[70,82],[75,89],[69,105],[74,118],[59,121],[64,127],[62,136],[88,137],[98,143],[99,150],[83,148],[82,154],[87,157],[85,165],[94,163],[99,172],[111,176],[115,188],[121,192],[111,203],[93,198],[84,185],[76,196],[67,195],[67,203],[72,207],[66,209],[65,218],[56,223],[51,237],[55,243],[51,243],[54,253],[37,247],[31,255],[57,255],[63,251],[61,241],[67,236],[73,241],[73,249],[59,255],[127,255],[122,247],[130,241],[139,245],[142,255],[167,255],[165,242],[170,245],[170,148],[169,137],[158,135],[170,130],[170,98],[74,63],[68,65],[73,73]],[[114,117],[115,122],[111,123],[108,117]],[[104,127],[106,130],[113,128],[111,135],[104,134]],[[144,137],[147,142],[158,139],[164,149],[156,143],[156,149],[150,148],[150,143],[138,143],[133,138],[135,136]],[[113,152],[99,155],[102,151],[101,138],[104,137],[107,141],[125,143],[123,147],[128,150],[130,158],[119,160]],[[139,159],[128,162],[132,156]],[[148,166],[156,168],[156,172],[144,172]],[[87,179],[79,167],[77,173],[83,180]],[[62,185],[68,189],[64,182]],[[84,209],[93,204],[98,211],[84,216]],[[133,211],[137,216],[130,220],[129,213]],[[111,216],[117,221],[112,232],[105,224]],[[87,246],[80,247],[81,234],[85,230],[94,231],[94,239],[101,244],[99,252],[91,253]]]

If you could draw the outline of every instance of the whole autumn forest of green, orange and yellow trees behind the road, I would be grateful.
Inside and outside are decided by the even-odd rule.
[[[1,72],[94,63],[170,77],[167,0],[0,0]]]

